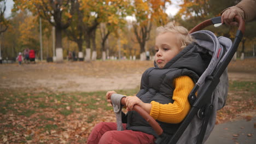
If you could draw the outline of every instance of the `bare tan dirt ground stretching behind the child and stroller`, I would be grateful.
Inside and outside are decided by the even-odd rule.
[[[0,88],[43,88],[53,92],[92,92],[139,87],[152,61],[95,61],[0,64]],[[232,61],[231,81],[256,81],[256,58]]]

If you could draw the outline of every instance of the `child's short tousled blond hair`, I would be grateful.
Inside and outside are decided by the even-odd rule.
[[[194,41],[193,37],[191,37],[191,35],[188,33],[188,29],[182,26],[175,26],[174,21],[167,23],[165,26],[160,26],[156,28],[156,36],[166,32],[178,34],[178,45],[181,46],[181,49],[184,49],[184,47]]]

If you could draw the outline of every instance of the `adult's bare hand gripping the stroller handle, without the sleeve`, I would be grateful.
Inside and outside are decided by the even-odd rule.
[[[237,26],[239,25],[238,22],[234,21],[234,17],[236,15],[241,16],[243,11],[240,8],[237,7],[230,7],[229,9],[226,9],[223,14],[222,14],[222,23],[225,23],[225,25],[230,25],[230,26]]]

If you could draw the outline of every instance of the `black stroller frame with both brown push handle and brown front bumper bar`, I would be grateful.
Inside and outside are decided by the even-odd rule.
[[[214,69],[210,75],[207,75],[205,77],[204,84],[201,88],[200,93],[198,93],[197,97],[195,95],[195,93],[199,89],[199,85],[197,85],[197,83],[192,89],[191,93],[188,95],[191,109],[189,110],[188,115],[183,119],[181,125],[179,125],[179,128],[176,131],[176,133],[174,133],[171,137],[166,135],[165,133],[163,133],[162,128],[155,121],[155,119],[152,118],[144,109],[142,109],[138,105],[135,105],[133,107],[133,110],[138,112],[150,124],[150,126],[152,126],[156,134],[159,135],[155,143],[168,143],[168,144],[177,143],[195,115],[203,119],[202,127],[199,135],[197,136],[196,143],[199,144],[203,142],[203,138],[205,137],[205,133],[206,133],[207,124],[213,110],[213,105],[211,104],[211,95],[220,81],[219,80],[220,76],[223,74],[226,67],[228,67],[229,62],[234,56],[237,50],[237,47],[243,37],[243,33],[245,32],[245,21],[243,21],[243,19],[238,16],[235,16],[235,21],[239,23],[239,26],[236,32],[235,40],[233,41],[233,44],[230,50],[226,52],[225,54],[226,56],[224,57],[223,61],[219,62],[219,64],[217,65],[217,68]],[[221,23],[220,16],[201,22],[199,25],[191,29],[189,33],[191,34],[207,26],[214,25],[217,23]],[[125,97],[120,99],[120,103],[121,105],[125,105]]]

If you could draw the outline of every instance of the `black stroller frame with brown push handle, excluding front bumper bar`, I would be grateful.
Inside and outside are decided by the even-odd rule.
[[[224,60],[219,63],[214,73],[211,76],[206,77],[205,84],[201,88],[202,91],[199,93],[199,95],[197,95],[197,98],[195,97],[195,92],[197,91],[199,86],[195,85],[192,92],[189,94],[191,109],[188,115],[181,123],[181,125],[179,126],[176,133],[174,133],[174,135],[172,136],[170,142],[167,143],[177,143],[177,141],[179,140],[179,138],[181,137],[181,135],[183,134],[183,132],[188,127],[189,123],[197,113],[199,114],[199,117],[203,118],[201,131],[199,136],[197,137],[197,144],[202,143],[203,137],[205,136],[208,120],[213,110],[213,105],[211,104],[210,96],[219,83],[219,77],[223,74],[223,71],[226,69],[226,67],[228,67],[229,62],[234,56],[237,47],[243,37],[243,33],[245,32],[245,22],[243,21],[243,19],[241,17],[236,16],[235,20],[239,23],[239,27],[236,32],[234,43],[231,46],[231,50],[227,52],[227,56],[224,57]],[[214,25],[216,23],[221,23],[220,16],[214,17],[210,20],[203,21],[202,23],[191,29],[189,33],[199,31],[200,29],[203,29],[210,25]]]

